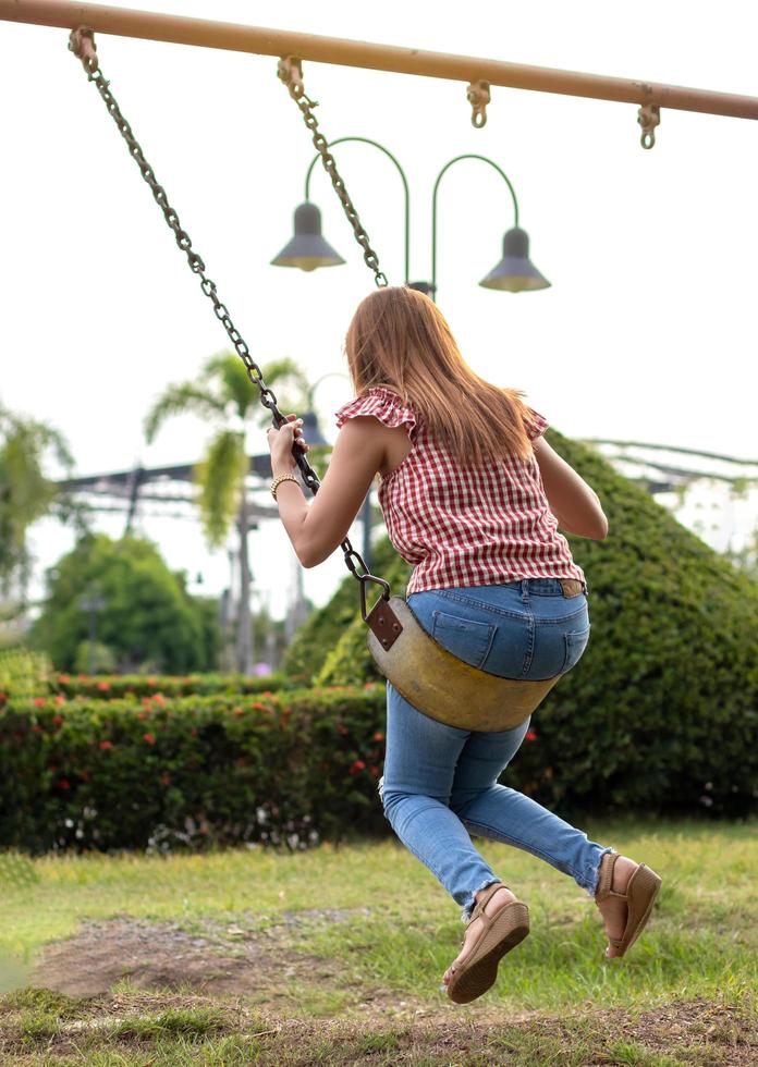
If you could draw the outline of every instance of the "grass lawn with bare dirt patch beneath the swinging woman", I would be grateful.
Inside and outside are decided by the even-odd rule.
[[[757,1064],[756,825],[587,825],[663,878],[613,962],[586,893],[482,843],[531,933],[465,1007],[439,988],[459,908],[394,842],[39,859],[1,886],[26,988],[0,998],[0,1062]]]

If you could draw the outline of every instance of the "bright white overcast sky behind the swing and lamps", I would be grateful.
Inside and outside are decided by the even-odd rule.
[[[133,0],[123,7],[247,22],[521,63],[756,94],[758,10],[669,0],[655,12],[607,0],[480,0],[475,5],[319,4],[290,0]],[[192,419],[147,447],[142,418],[167,383],[194,377],[225,335],[78,62],[66,32],[0,23],[4,165],[0,398],[66,436],[81,474],[199,456]],[[276,59],[98,36],[100,63],[157,176],[259,363],[289,355],[311,379],[344,370],[341,343],[370,291],[326,176],[313,199],[346,267],[269,267],[289,240],[313,156]],[[651,151],[637,109],[493,88],[474,130],[465,85],[307,63],[307,91],[330,139],[378,139],[412,189],[412,277],[428,278],[431,186],[453,156],[490,156],[518,195],[536,266],[553,287],[519,296],[477,282],[512,225],[504,184],[460,163],[440,194],[439,303],[475,369],[525,390],[563,432],[633,438],[750,456],[758,284],[756,127],[664,111]],[[402,282],[402,191],[364,146],[338,148],[390,281]],[[347,398],[331,378],[320,412]],[[262,433],[252,438],[262,451]],[[101,528],[118,535],[121,519]],[[227,580],[190,523],[145,519],[174,567]],[[40,565],[71,544],[37,528]],[[252,539],[262,600],[292,575],[274,525]],[[321,601],[340,556],[306,574]]]

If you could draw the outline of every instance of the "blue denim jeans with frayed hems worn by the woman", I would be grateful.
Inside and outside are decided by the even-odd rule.
[[[436,589],[408,603],[454,655],[506,678],[550,678],[579,660],[589,638],[587,599],[565,598],[554,578]],[[612,851],[498,778],[529,720],[499,733],[445,726],[421,714],[388,682],[387,756],[379,795],[403,844],[462,905],[467,921],[479,890],[500,882],[470,834],[523,848],[570,874],[592,896]]]

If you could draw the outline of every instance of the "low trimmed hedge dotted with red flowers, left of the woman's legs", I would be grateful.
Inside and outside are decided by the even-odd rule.
[[[307,847],[386,832],[383,688],[0,709],[0,847]]]

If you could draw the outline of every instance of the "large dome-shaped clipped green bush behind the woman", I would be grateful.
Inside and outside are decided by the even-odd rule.
[[[502,781],[564,811],[755,810],[758,586],[597,452],[549,439],[599,493],[610,534],[570,538],[589,584],[589,648],[537,711],[539,744],[525,744]],[[379,573],[403,592],[402,561]],[[318,649],[308,667],[320,685],[378,678],[347,610],[354,585],[298,636]]]

